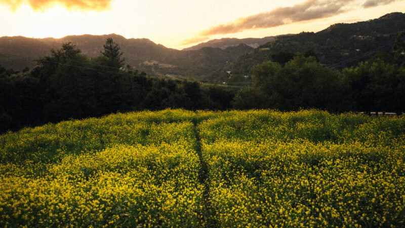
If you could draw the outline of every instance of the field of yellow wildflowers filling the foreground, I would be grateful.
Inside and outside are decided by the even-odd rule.
[[[403,227],[405,116],[166,109],[9,132],[0,226]]]

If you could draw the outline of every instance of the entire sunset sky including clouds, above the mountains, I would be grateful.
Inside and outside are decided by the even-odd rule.
[[[0,0],[0,36],[120,34],[182,49],[405,13],[405,0]]]

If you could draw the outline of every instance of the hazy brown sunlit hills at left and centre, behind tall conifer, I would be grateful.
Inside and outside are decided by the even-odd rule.
[[[148,39],[126,39],[117,34],[70,35],[61,39],[31,39],[23,36],[0,37],[0,64],[6,68],[21,70],[36,65],[35,59],[50,55],[51,49],[72,42],[89,57],[100,55],[103,45],[111,37],[124,52],[126,63],[148,74],[172,73],[189,77],[209,75],[227,62],[252,51],[245,44],[225,49],[205,47],[195,51],[179,51],[155,44]]]

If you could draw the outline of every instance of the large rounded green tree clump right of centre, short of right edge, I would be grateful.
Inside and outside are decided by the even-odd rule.
[[[279,110],[343,111],[350,108],[341,74],[322,66],[313,56],[298,55],[284,67],[276,62],[264,62],[255,65],[251,72],[254,88],[239,92],[234,101],[237,108],[252,108],[245,105],[249,103]],[[242,101],[245,97],[249,97],[248,100]]]

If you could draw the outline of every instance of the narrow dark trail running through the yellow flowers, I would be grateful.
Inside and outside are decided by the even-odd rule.
[[[198,132],[198,121],[194,120],[194,135],[196,141],[196,148],[198,159],[200,162],[200,171],[198,173],[198,178],[201,184],[204,185],[204,192],[203,192],[203,202],[204,202],[204,212],[205,216],[208,217],[206,227],[218,227],[218,221],[215,219],[215,208],[213,208],[211,203],[211,192],[210,192],[210,183],[208,180],[208,165],[205,161],[202,153],[201,147],[201,138]]]

